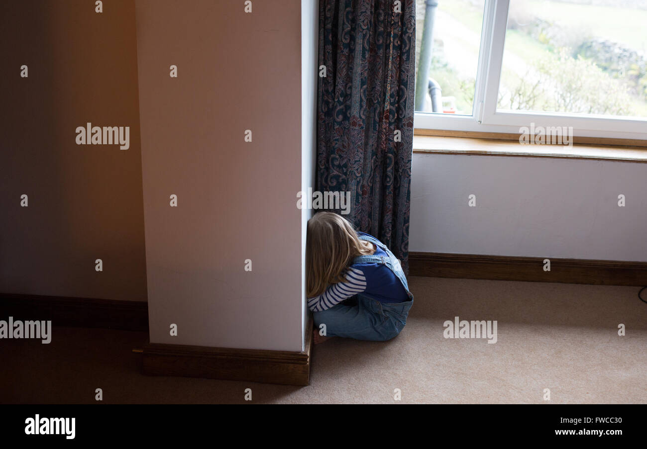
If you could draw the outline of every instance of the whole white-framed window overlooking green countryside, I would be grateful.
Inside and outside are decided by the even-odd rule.
[[[647,0],[416,2],[416,128],[647,139]]]

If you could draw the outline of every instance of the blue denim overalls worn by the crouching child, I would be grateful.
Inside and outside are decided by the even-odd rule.
[[[388,254],[388,258],[376,255],[357,256],[355,264],[384,264],[400,279],[409,297],[408,301],[383,303],[364,293],[356,295],[357,304],[349,306],[345,300],[330,309],[313,312],[316,330],[320,324],[325,324],[325,335],[330,337],[346,337],[356,340],[390,340],[400,333],[409,310],[413,305],[413,295],[404,277],[400,261],[391,251],[376,238],[369,235],[359,235],[360,240],[368,240]]]

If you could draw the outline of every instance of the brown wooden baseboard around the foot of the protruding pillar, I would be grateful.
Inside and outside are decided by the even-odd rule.
[[[156,376],[306,386],[310,382],[312,329],[311,317],[302,352],[148,343],[141,351],[142,369],[144,374]]]

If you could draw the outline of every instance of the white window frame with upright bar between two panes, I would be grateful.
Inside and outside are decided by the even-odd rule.
[[[514,1],[514,0],[513,0]],[[471,116],[415,112],[414,128],[519,133],[520,127],[573,127],[573,135],[647,140],[647,118],[496,110],[510,0],[486,0]]]

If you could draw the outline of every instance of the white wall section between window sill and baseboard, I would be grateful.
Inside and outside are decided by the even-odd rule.
[[[412,164],[410,251],[647,261],[647,164],[420,153]]]

